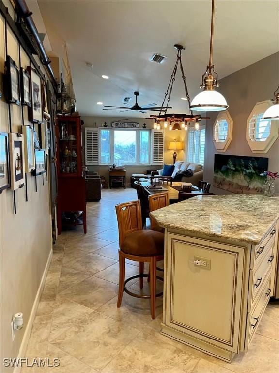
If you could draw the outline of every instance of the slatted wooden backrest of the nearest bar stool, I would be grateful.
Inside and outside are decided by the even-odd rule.
[[[115,209],[119,232],[119,246],[121,247],[124,238],[129,233],[142,229],[140,201],[120,203],[115,206]]]

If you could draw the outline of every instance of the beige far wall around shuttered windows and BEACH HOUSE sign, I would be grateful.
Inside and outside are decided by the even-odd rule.
[[[117,110],[116,110],[117,112]],[[148,113],[146,113],[148,116]],[[84,120],[84,127],[101,127],[104,122],[108,123],[108,126],[111,127],[111,123],[115,121],[120,121],[123,117],[81,117]],[[140,123],[140,128],[142,128],[143,124],[145,123],[147,128],[152,128],[153,121],[147,120],[144,118],[129,118],[131,121],[135,121]],[[165,151],[164,151],[164,163],[172,164],[172,150],[168,150],[169,142],[174,141],[185,141],[186,131],[169,131],[165,130]],[[84,137],[83,137],[84,138]],[[184,160],[185,152],[183,150],[177,152],[177,160]],[[162,166],[158,165],[144,165],[144,166],[125,166],[126,169],[126,183],[129,185],[130,183],[130,176],[132,173],[146,173],[146,170],[152,169],[157,170],[162,168]],[[99,175],[104,176],[107,181],[109,181],[109,166],[89,166],[89,170],[94,170],[99,173]]]

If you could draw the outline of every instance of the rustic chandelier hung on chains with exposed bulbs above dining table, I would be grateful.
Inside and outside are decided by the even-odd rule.
[[[183,69],[182,62],[181,62],[181,51],[185,48],[180,44],[175,44],[174,48],[177,49],[177,59],[176,59],[173,71],[171,73],[171,80],[169,82],[168,89],[165,93],[165,97],[162,102],[159,114],[151,115],[149,118],[146,118],[146,119],[153,119],[154,120],[153,128],[157,130],[160,130],[163,127],[163,128],[169,128],[170,131],[181,130],[181,129],[185,129],[187,131],[188,122],[195,122],[195,128],[199,129],[200,120],[209,119],[208,117],[201,117],[200,114],[193,115],[192,110],[190,110],[190,114],[167,113],[168,109],[171,109],[171,107],[169,106],[169,103],[171,100],[172,86],[173,86],[173,83],[175,82],[175,76],[176,76],[178,64],[179,64],[181,74],[182,74],[182,79],[183,79],[185,93],[186,93],[186,100],[188,101],[188,105],[190,107],[190,96],[189,96],[188,88],[186,85],[186,77],[185,77],[184,69]]]

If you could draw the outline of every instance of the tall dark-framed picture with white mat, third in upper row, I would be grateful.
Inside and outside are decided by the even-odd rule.
[[[28,110],[28,117],[32,123],[42,123],[43,107],[41,77],[31,66],[28,66],[27,70],[31,80],[31,107]]]

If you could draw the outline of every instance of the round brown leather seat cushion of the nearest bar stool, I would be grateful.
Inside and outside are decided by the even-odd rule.
[[[164,255],[164,234],[148,229],[131,232],[125,237],[121,250],[136,256]]]

